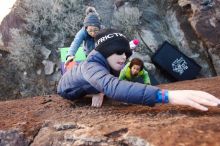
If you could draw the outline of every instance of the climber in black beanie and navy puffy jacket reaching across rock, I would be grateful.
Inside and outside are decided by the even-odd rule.
[[[120,71],[132,54],[129,41],[117,30],[104,29],[95,37],[96,47],[84,62],[67,71],[59,81],[58,94],[74,100],[92,94],[92,106],[100,107],[106,95],[117,101],[152,106],[156,103],[188,105],[202,111],[220,100],[197,90],[164,90],[155,86],[119,80]]]

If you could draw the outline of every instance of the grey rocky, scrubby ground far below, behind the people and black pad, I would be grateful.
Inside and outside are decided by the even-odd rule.
[[[0,57],[6,63],[0,64],[0,74],[9,74],[1,88],[13,90],[13,98],[55,93],[61,76],[58,48],[70,46],[88,5],[95,6],[103,26],[141,41],[135,55],[159,83],[171,80],[150,58],[164,41],[202,67],[198,78],[220,75],[219,0],[17,0],[0,26],[0,50],[9,52]],[[12,98],[7,92],[0,97]]]

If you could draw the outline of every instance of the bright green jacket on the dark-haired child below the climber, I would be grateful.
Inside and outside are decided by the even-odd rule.
[[[148,84],[148,85],[151,84],[148,72],[146,70],[142,69],[138,73],[137,76],[132,77],[131,76],[131,69],[129,68],[129,65],[130,65],[130,62],[127,63],[125,65],[125,67],[121,70],[120,75],[119,75],[119,79],[120,80],[133,81],[133,80],[135,80],[135,78],[141,77],[143,79],[143,81],[144,81],[144,84]]]

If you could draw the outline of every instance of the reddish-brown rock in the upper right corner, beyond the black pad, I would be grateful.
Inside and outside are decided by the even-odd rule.
[[[188,17],[190,26],[201,40],[201,43],[203,43],[215,72],[219,75],[220,1],[182,0],[179,1],[179,5],[185,11],[190,9],[191,13]]]

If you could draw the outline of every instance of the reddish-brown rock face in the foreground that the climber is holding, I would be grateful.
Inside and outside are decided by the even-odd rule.
[[[220,97],[220,77],[161,85]],[[106,99],[70,102],[58,95],[0,102],[0,145],[219,146],[220,108],[126,105]]]

